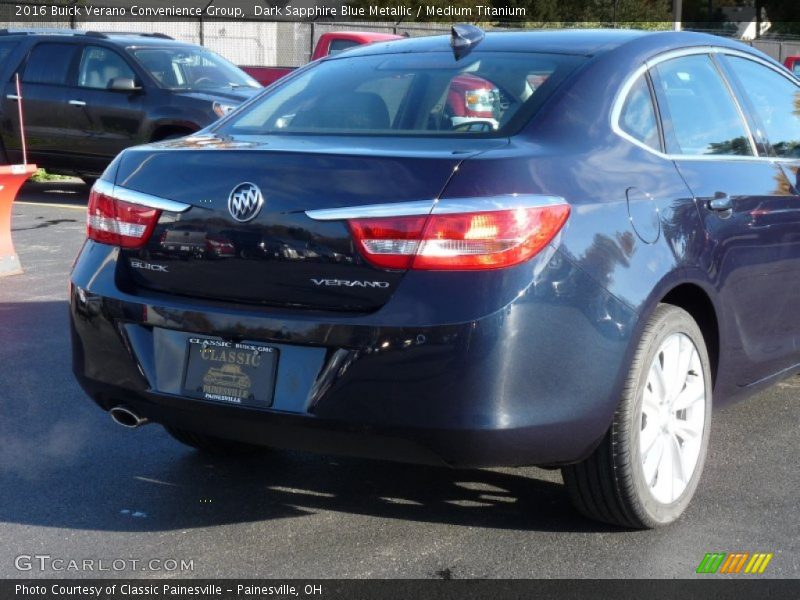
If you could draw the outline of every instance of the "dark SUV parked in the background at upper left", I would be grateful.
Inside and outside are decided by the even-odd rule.
[[[260,85],[221,56],[159,33],[0,31],[0,162],[93,180],[121,150],[202,129]]]

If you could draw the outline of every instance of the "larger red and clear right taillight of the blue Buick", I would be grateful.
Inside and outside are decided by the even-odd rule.
[[[364,258],[384,269],[480,270],[520,264],[561,230],[569,205],[350,219]]]

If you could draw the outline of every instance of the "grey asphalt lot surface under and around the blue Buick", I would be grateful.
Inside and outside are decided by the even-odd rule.
[[[86,193],[28,184],[14,208],[25,273],[0,278],[0,577],[683,578],[707,552],[771,552],[760,577],[800,576],[798,378],[715,410],[697,495],[657,531],[576,515],[558,471],[218,460],[157,425],[115,425],[70,372]]]

